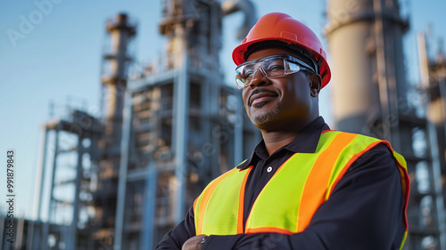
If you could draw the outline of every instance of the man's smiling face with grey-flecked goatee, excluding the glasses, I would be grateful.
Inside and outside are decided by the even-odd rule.
[[[292,53],[280,48],[253,52],[247,60]],[[243,89],[244,108],[252,124],[267,131],[299,129],[318,117],[320,77],[302,71],[284,77],[265,77],[257,70]]]

